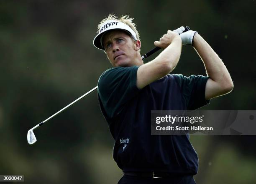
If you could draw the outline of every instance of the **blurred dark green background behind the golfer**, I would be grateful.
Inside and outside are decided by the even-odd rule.
[[[168,29],[197,30],[234,81],[233,92],[202,109],[255,110],[255,10],[254,0],[1,0],[0,175],[23,174],[28,184],[118,182],[122,172],[97,92],[35,130],[33,146],[26,138],[111,67],[92,45],[98,22],[110,12],[136,18],[141,54]],[[183,46],[173,72],[205,75],[191,46]],[[191,142],[200,160],[197,184],[256,183],[255,136],[191,136]]]

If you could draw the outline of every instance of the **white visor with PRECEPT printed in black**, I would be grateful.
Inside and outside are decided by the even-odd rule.
[[[118,20],[108,20],[100,27],[99,34],[97,34],[93,40],[93,45],[100,50],[104,50],[102,45],[102,36],[106,33],[106,31],[113,29],[125,30],[129,35],[131,35],[131,37],[133,37],[134,40],[137,40],[136,32],[133,31],[130,26]]]

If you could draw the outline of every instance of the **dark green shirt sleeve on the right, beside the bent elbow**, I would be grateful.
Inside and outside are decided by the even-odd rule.
[[[205,85],[209,77],[203,75],[176,75],[187,110],[195,110],[210,103],[210,99],[205,99]]]

